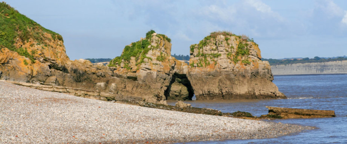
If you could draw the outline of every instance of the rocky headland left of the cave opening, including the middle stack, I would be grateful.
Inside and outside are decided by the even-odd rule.
[[[71,61],[58,33],[41,27],[5,3],[1,3],[0,8],[3,9],[0,15],[15,12],[0,17],[11,27],[0,33],[6,34],[0,37],[1,80],[88,89],[165,104],[164,90],[170,85],[172,75],[187,73],[187,64],[170,56],[170,39],[164,35],[151,33],[137,42],[136,48],[145,50],[138,53],[140,57],[132,55],[136,51],[125,49],[124,55],[130,54],[127,55],[129,59],[121,59],[119,67],[93,65],[83,59]],[[18,19],[14,15],[22,17]],[[11,38],[7,39],[9,36]]]

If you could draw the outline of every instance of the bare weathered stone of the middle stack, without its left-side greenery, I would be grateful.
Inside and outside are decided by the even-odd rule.
[[[139,42],[150,41],[148,52],[138,57],[130,57],[129,61],[116,59],[110,64],[115,66],[114,73],[124,82],[110,86],[110,92],[122,95],[142,97],[146,102],[166,104],[165,91],[170,86],[174,74],[186,74],[188,65],[171,57],[171,43],[164,35],[153,33],[151,38],[141,38]],[[139,43],[136,42],[136,43]],[[128,47],[136,45],[132,43]],[[123,51],[122,55],[125,51]],[[142,61],[143,60],[143,61]],[[110,80],[109,83],[112,82]],[[126,82],[125,82],[126,81]],[[117,91],[117,92],[115,92]]]

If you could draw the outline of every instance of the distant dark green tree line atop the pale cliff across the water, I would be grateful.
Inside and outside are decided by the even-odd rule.
[[[302,59],[266,59],[262,58],[263,61],[269,61],[271,66],[274,65],[289,65],[289,64],[303,64],[303,63],[323,63],[329,61],[341,61],[347,60],[347,57],[338,57],[338,58],[302,58]]]

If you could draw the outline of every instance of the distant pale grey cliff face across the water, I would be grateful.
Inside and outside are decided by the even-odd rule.
[[[273,75],[347,74],[347,60],[271,66]]]

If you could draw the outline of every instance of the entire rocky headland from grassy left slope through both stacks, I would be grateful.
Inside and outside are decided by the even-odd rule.
[[[108,66],[93,65],[88,60],[70,60],[58,33],[6,3],[0,3],[0,8],[0,18],[8,26],[0,31],[0,80],[88,89],[159,104],[192,99],[194,93],[197,99],[285,98],[271,82],[270,66],[260,60],[257,45],[241,36],[212,33],[191,46],[188,66],[171,57],[167,36],[151,30],[125,46]]]

